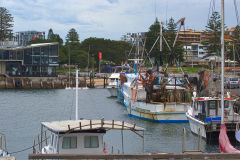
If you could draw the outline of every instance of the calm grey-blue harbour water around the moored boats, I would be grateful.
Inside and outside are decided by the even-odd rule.
[[[79,117],[87,119],[120,120],[144,127],[144,152],[180,153],[182,129],[187,130],[187,149],[197,148],[197,137],[189,124],[158,124],[127,116],[125,107],[110,98],[106,89],[79,90]],[[33,145],[40,133],[40,122],[74,119],[75,91],[72,90],[1,90],[0,132],[7,135],[7,149],[15,152]],[[110,131],[105,136],[107,147],[121,150],[121,132]],[[124,131],[125,153],[140,153],[143,141],[135,133]],[[218,145],[206,145],[206,152],[218,152]],[[109,150],[110,151],[110,150]],[[32,149],[14,154],[18,160],[27,159]]]

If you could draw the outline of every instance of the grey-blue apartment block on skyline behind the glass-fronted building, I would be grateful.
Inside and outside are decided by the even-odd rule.
[[[19,46],[26,46],[29,41],[34,40],[35,38],[45,39],[45,32],[23,31],[16,32],[15,35],[15,39]]]

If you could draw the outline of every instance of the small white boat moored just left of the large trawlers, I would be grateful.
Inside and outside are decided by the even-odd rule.
[[[120,79],[120,73],[112,73],[109,77],[110,82],[107,86],[107,89],[111,95],[111,97],[117,97],[117,87],[118,87],[118,81]]]

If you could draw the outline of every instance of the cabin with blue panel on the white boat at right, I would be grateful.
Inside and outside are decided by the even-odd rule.
[[[235,121],[238,115],[234,113],[233,98],[224,98],[224,121]],[[206,123],[220,123],[221,98],[218,97],[193,97],[192,115]]]

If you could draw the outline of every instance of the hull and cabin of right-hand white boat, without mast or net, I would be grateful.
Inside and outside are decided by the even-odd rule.
[[[240,116],[234,112],[236,99],[224,98],[224,123],[227,133],[235,137],[236,125],[239,123]],[[204,137],[207,142],[218,138],[221,128],[221,98],[219,97],[196,97],[192,98],[186,116],[189,120],[191,131]]]

